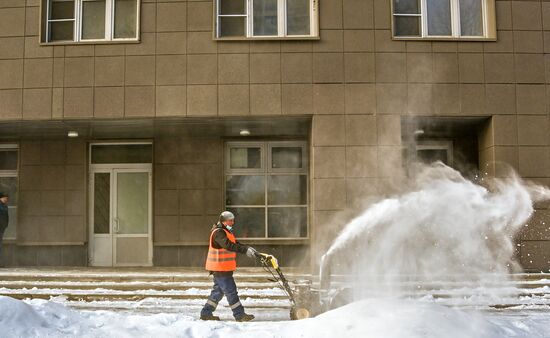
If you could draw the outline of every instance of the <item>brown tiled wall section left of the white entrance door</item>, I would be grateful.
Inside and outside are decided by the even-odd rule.
[[[17,243],[82,245],[86,233],[86,144],[21,141]]]

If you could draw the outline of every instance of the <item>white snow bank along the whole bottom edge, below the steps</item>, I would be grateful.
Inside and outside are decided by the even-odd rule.
[[[430,303],[363,300],[295,322],[203,322],[180,314],[78,312],[52,301],[0,297],[2,337],[548,337],[548,316],[510,318]]]

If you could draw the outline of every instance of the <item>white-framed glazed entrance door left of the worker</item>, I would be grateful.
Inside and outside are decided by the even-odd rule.
[[[151,266],[152,164],[94,163],[91,156],[89,182],[90,265]]]

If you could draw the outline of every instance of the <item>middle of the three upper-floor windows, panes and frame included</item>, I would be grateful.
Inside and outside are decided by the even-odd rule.
[[[217,38],[317,37],[317,0],[216,0]]]

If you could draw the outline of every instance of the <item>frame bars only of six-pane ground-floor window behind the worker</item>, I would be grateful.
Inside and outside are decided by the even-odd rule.
[[[231,148],[261,148],[261,168],[254,169],[231,169],[229,167],[230,162],[230,149]],[[272,154],[271,150],[277,147],[301,147],[302,148],[302,168],[271,168],[272,165]],[[269,240],[269,241],[281,241],[281,240],[305,240],[309,239],[310,229],[309,229],[309,161],[307,153],[307,142],[306,141],[251,141],[251,142],[227,142],[225,145],[225,173],[224,173],[224,206],[227,208],[263,208],[264,213],[264,226],[265,226],[265,237],[246,237],[246,240]],[[306,177],[306,204],[292,204],[292,205],[270,205],[268,204],[268,178],[269,176],[278,176],[278,175],[295,175],[295,176],[305,176]],[[227,200],[227,176],[264,176],[264,204],[262,205],[227,205],[225,201]],[[306,208],[306,236],[304,237],[269,237],[269,208],[283,208],[283,207],[296,207],[296,208]],[[238,222],[238,220],[237,220]]]

